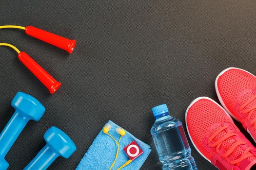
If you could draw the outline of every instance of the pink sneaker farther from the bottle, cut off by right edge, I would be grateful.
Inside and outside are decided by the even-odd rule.
[[[227,68],[216,79],[222,106],[256,141],[256,77],[239,68]]]

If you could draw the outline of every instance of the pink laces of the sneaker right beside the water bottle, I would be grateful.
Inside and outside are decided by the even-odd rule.
[[[222,128],[218,129],[217,132],[215,132],[212,136],[209,137],[207,144],[209,144],[220,132],[226,130],[228,127],[230,127],[230,125],[225,125]],[[215,143],[213,143],[211,145],[212,148],[216,147],[216,152],[219,152],[219,147],[221,146],[221,144],[224,142],[224,140],[228,139],[231,136],[238,136],[236,133],[232,133],[232,130],[229,130],[223,137],[221,137],[220,139],[218,139]],[[242,140],[242,138],[240,138],[239,140],[237,140],[232,147],[230,147],[226,153],[224,153],[223,155],[221,155],[222,158],[225,158],[226,160],[228,159],[228,156],[233,153],[233,151],[235,151],[235,149],[239,146],[239,145],[246,145],[246,142]],[[250,151],[250,147],[246,147],[244,153],[237,159],[230,161],[230,164],[239,164],[242,160],[252,156],[253,154],[249,152]]]

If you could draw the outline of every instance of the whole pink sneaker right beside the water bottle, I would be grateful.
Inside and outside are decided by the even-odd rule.
[[[255,147],[217,102],[207,97],[194,100],[186,111],[186,125],[197,151],[219,170],[255,168]]]

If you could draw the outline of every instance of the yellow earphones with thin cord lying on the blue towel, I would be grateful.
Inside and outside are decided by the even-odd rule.
[[[111,135],[108,133],[110,129],[111,129],[111,125],[110,125],[110,124],[106,124],[106,125],[104,126],[104,128],[103,128],[103,133],[107,134],[107,135],[110,136],[112,139],[114,139],[114,141],[116,142],[116,144],[117,144],[118,147],[117,147],[117,153],[116,153],[115,160],[114,160],[114,162],[113,162],[113,164],[111,165],[111,167],[110,167],[109,170],[111,170],[111,169],[114,167],[115,163],[116,163],[116,160],[117,160],[117,158],[118,158],[118,152],[119,152],[119,143],[120,143],[120,140],[121,140],[122,136],[125,135],[125,130],[123,130],[123,129],[121,129],[121,128],[118,127],[118,128],[116,129],[116,132],[120,135],[120,137],[119,137],[119,140],[117,141],[113,136],[111,136]],[[123,168],[123,167],[120,167],[118,170],[120,170],[121,168]]]

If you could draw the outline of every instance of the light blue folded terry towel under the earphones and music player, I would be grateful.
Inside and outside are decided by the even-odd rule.
[[[116,132],[116,128],[119,127],[112,121],[107,124],[111,125],[109,134],[116,138],[118,141],[120,135]],[[120,128],[120,127],[119,127]],[[125,136],[121,138],[119,144],[119,154],[116,164],[112,170],[117,170],[125,162],[129,160],[127,154],[123,151],[123,148],[127,146],[132,141],[136,141],[143,151],[143,153],[138,156],[129,165],[122,168],[121,170],[139,170],[142,164],[147,159],[149,153],[151,152],[150,146],[144,142],[138,140],[136,137],[131,135],[129,132],[125,131]],[[80,161],[76,170],[109,170],[111,167],[117,152],[116,142],[107,134],[104,134],[101,130],[98,136],[93,141],[88,151],[85,153],[84,157]]]

